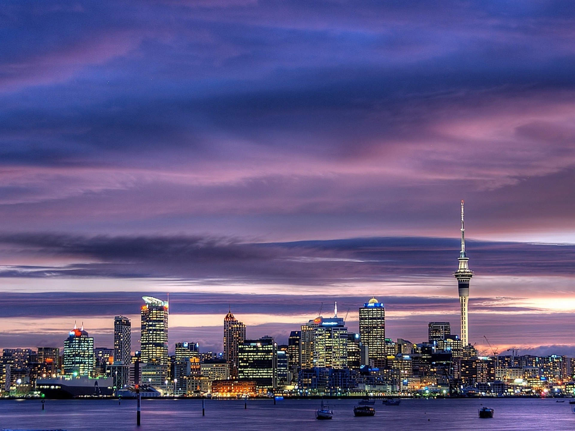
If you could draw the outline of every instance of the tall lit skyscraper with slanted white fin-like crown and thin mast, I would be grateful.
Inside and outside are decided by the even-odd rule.
[[[158,298],[142,297],[140,360],[141,382],[162,384],[168,376],[168,302]]]

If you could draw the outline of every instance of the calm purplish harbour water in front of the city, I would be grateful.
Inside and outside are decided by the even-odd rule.
[[[317,421],[316,400],[206,400],[202,417],[199,400],[143,400],[142,425],[136,426],[136,401],[47,400],[0,401],[2,428],[62,428],[76,430],[574,430],[569,399],[429,399],[402,400],[400,406],[376,401],[374,417],[356,418],[354,400],[330,400],[333,420]],[[481,404],[495,410],[493,419],[480,419]]]

